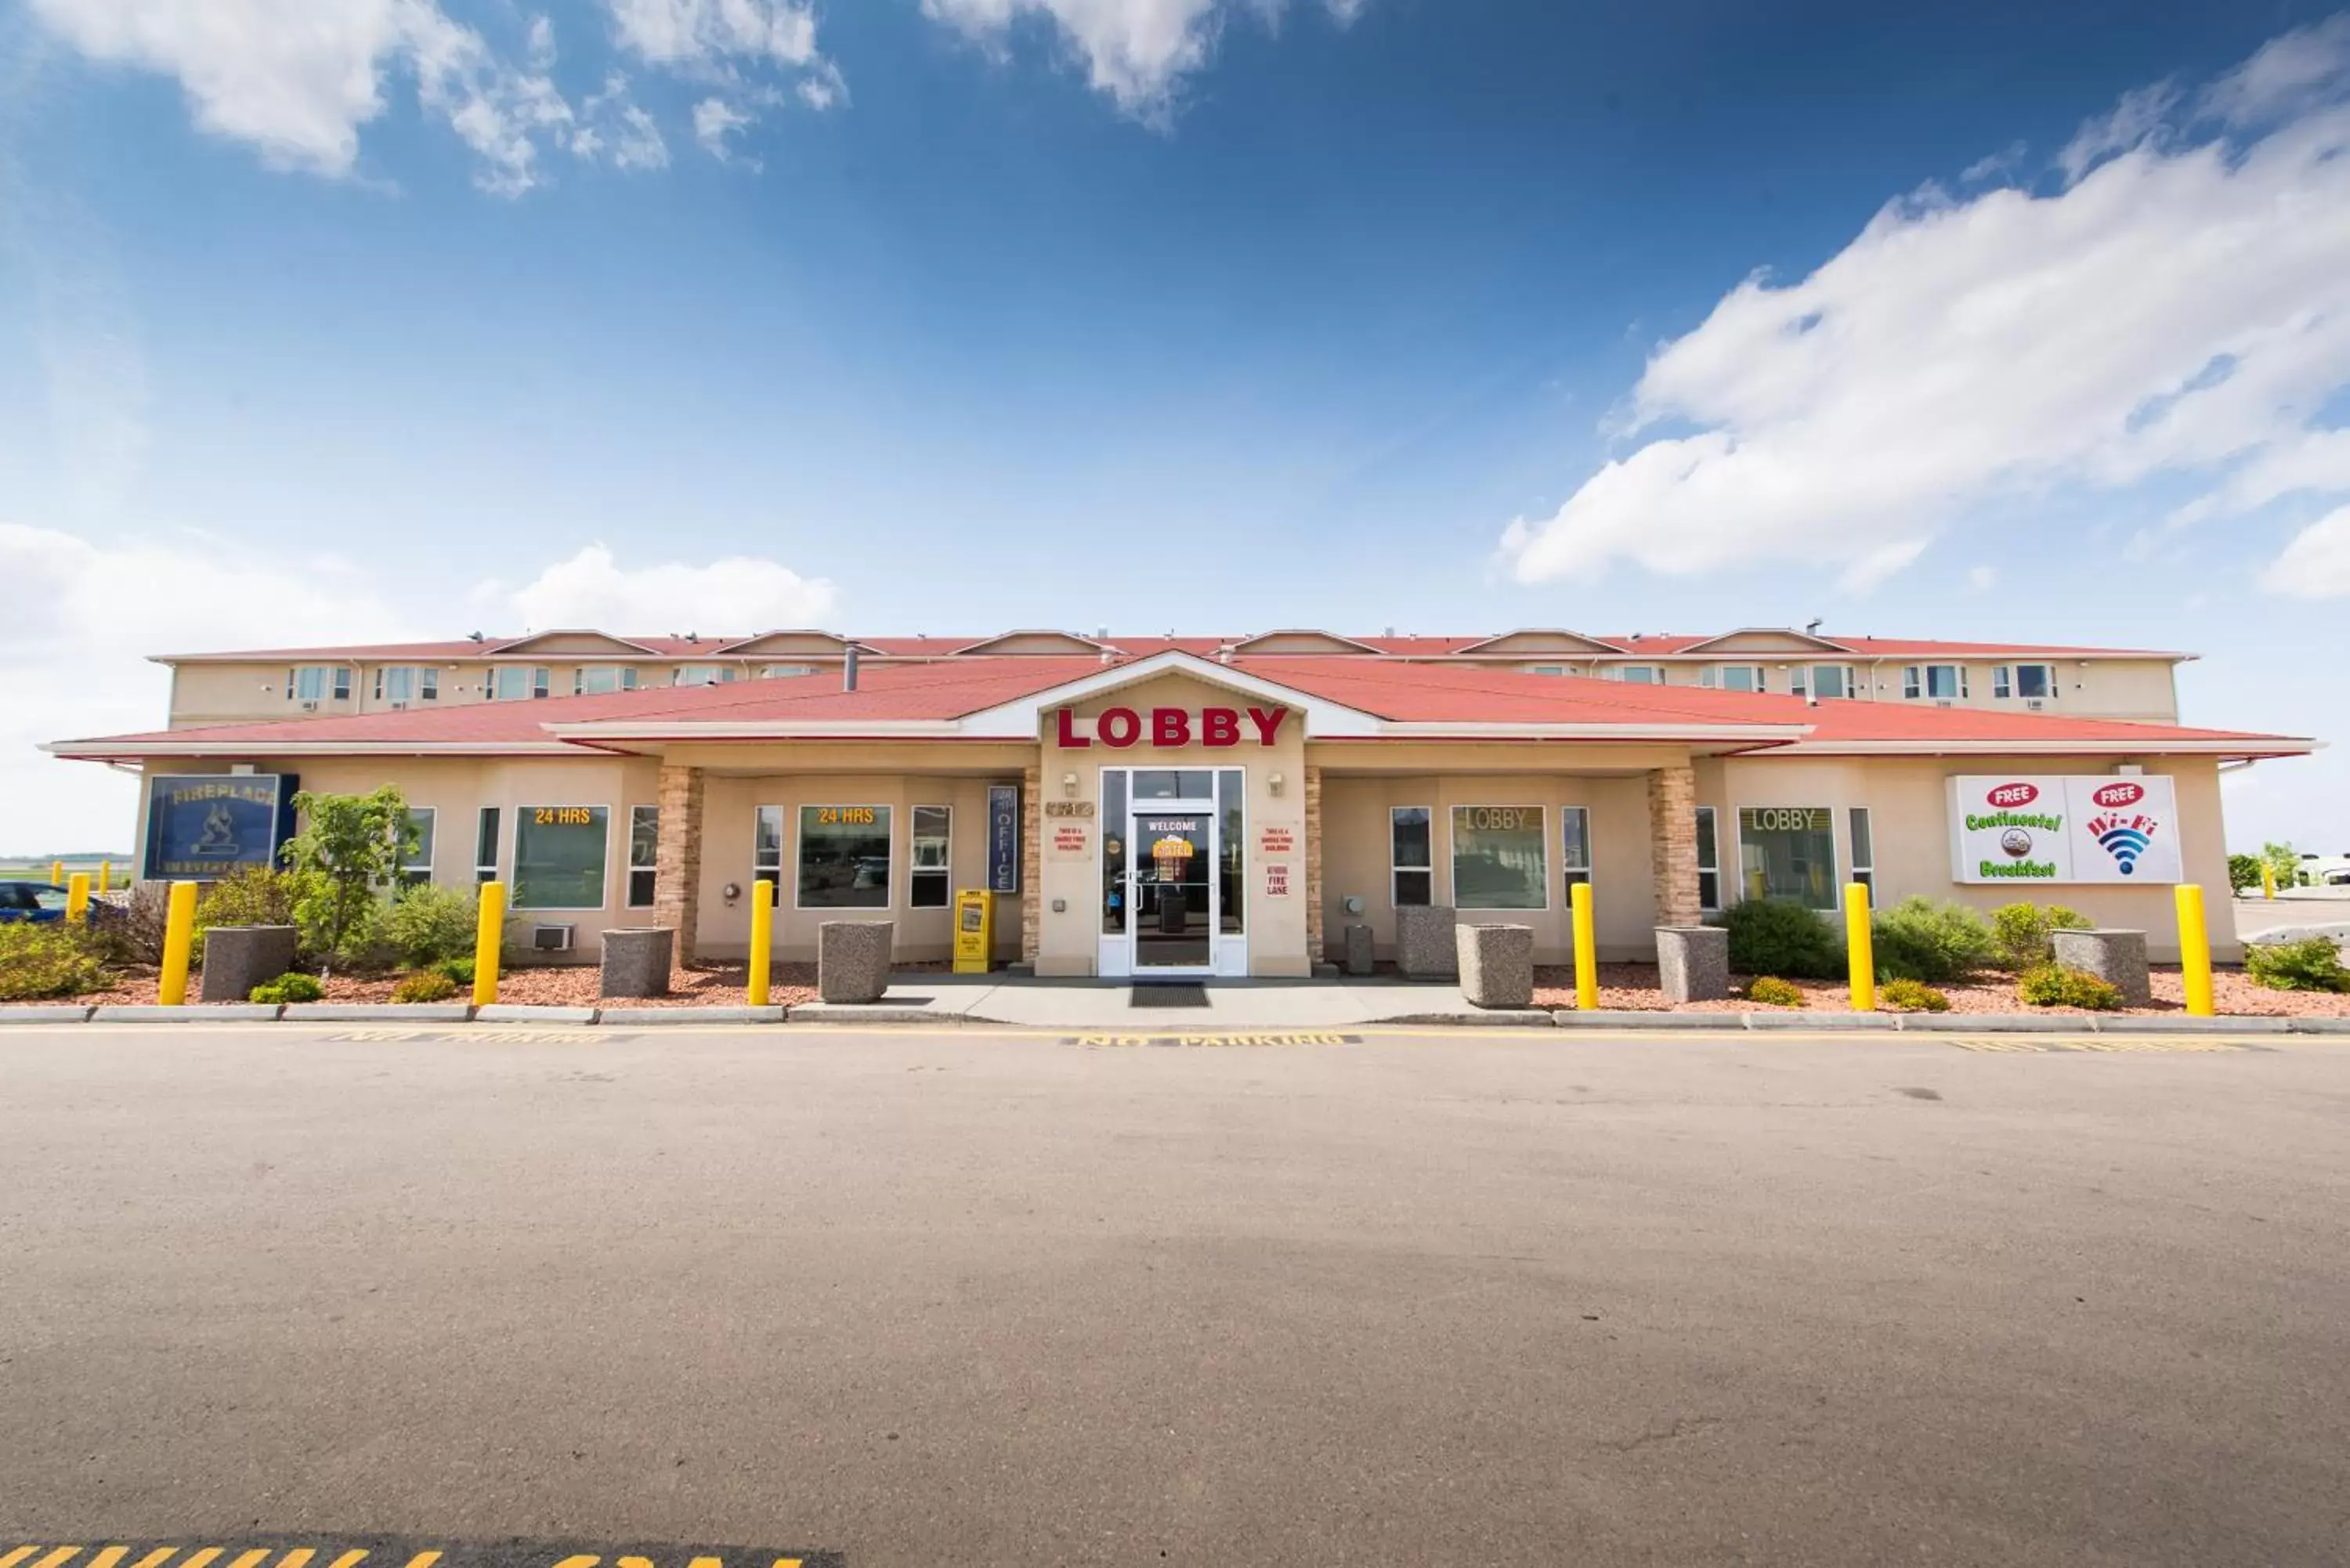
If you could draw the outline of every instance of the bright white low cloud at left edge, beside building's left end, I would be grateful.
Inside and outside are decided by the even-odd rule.
[[[94,543],[0,522],[0,853],[129,846],[134,780],[35,748],[162,729],[172,677],[148,654],[219,646],[223,616],[251,646],[418,635],[364,581],[202,536]]]

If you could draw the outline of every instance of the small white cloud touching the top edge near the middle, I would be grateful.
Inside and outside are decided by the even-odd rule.
[[[1340,26],[1354,24],[1368,0],[1323,0]],[[966,38],[1006,49],[1013,24],[1046,19],[1086,66],[1095,92],[1109,94],[1140,120],[1163,120],[1187,75],[1208,63],[1231,9],[1281,16],[1285,0],[921,0],[933,21]]]

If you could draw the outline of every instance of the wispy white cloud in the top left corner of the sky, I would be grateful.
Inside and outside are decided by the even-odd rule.
[[[197,127],[275,167],[345,176],[392,71],[482,158],[479,183],[536,183],[536,139],[569,122],[543,63],[517,68],[435,0],[31,0],[82,54],[179,80]],[[533,61],[552,26],[531,24]]]

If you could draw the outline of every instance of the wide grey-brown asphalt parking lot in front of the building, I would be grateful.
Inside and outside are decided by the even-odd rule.
[[[19,1568],[2350,1542],[2331,1039],[12,1027],[0,1258]]]

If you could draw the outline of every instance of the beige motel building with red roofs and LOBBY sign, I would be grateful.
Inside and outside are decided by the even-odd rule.
[[[409,879],[501,879],[517,940],[613,926],[740,959],[895,922],[952,952],[959,889],[1036,976],[1309,976],[1396,910],[1600,959],[1739,898],[1847,882],[2066,903],[2176,957],[2171,884],[2223,889],[2221,773],[2312,750],[2178,722],[2186,654],[1828,637],[618,637],[167,656],[169,724],[47,750],[143,776],[146,877],[268,860],[296,790],[395,783]],[[2240,943],[2211,900],[2218,954]]]

